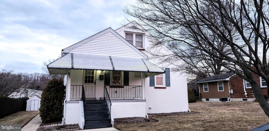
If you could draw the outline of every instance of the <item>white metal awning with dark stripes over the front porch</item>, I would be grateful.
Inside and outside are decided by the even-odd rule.
[[[66,74],[68,69],[119,70],[145,72],[146,77],[163,74],[165,71],[142,58],[116,57],[68,53],[47,65],[50,74]]]

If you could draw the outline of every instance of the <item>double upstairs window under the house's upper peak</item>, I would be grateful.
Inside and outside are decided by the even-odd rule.
[[[143,49],[144,48],[144,40],[143,34],[139,33],[125,33],[125,39],[133,44],[136,48]]]

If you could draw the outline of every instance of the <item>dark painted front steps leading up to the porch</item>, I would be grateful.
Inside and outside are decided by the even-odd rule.
[[[86,100],[84,129],[112,127],[105,100]]]

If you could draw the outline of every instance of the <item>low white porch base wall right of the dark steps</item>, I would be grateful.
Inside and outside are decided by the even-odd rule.
[[[146,102],[112,102],[113,118],[146,117]]]

